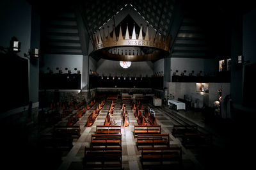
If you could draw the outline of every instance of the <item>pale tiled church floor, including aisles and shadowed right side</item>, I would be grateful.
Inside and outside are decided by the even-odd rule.
[[[86,124],[87,118],[90,113],[95,109],[94,106],[90,111],[87,111],[86,114],[77,121],[76,125],[81,127],[81,137],[74,140],[73,148],[63,155],[62,162],[58,169],[83,169],[83,157],[84,157],[84,147],[90,147],[91,135],[95,133],[97,125],[104,125],[106,114],[108,111],[110,103],[106,103],[102,111],[100,111],[97,120],[93,123],[92,127],[84,127]],[[221,150],[221,144],[227,142],[225,138],[220,136],[216,130],[212,130],[211,123],[205,124],[204,114],[200,111],[189,110],[186,111],[174,111],[168,107],[154,107],[152,104],[143,104],[143,107],[152,107],[156,112],[155,116],[157,118],[157,124],[161,125],[162,134],[170,134],[170,145],[179,145],[182,146],[179,138],[175,138],[172,135],[173,125],[179,125],[180,123],[189,123],[196,124],[200,130],[211,133],[213,145],[209,150],[204,150],[202,148],[184,148],[182,146],[182,167],[174,166],[172,169],[216,169],[220,164],[222,164],[223,157],[230,157],[229,154],[225,156],[221,155],[222,152],[218,153]],[[121,103],[120,100],[115,104],[115,110],[113,118],[116,120],[116,125],[122,126],[122,120],[120,117]],[[122,127],[122,164],[124,169],[142,169],[140,162],[140,151],[136,148],[136,139],[134,139],[133,129],[134,125],[138,125],[134,113],[131,110],[131,107],[127,105],[126,110],[128,112],[130,125],[129,127]],[[63,119],[62,123],[66,123]],[[61,122],[60,122],[61,123]],[[214,123],[213,123],[214,124]],[[224,144],[225,146],[225,144]],[[221,150],[222,151],[222,150]],[[226,153],[224,151],[224,153]],[[230,158],[227,158],[227,162],[230,162]],[[228,167],[228,163],[226,166]],[[225,167],[225,166],[224,166]]]

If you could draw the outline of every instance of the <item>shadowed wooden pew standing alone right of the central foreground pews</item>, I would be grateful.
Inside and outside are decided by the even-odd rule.
[[[173,125],[172,135],[183,137],[184,134],[198,134],[197,125]]]

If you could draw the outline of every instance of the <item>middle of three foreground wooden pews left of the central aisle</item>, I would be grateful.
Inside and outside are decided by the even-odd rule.
[[[121,134],[92,134],[91,146],[122,146]]]

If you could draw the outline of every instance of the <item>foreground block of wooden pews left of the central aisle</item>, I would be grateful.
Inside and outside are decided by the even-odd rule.
[[[84,169],[122,169],[121,126],[99,126],[84,148]]]

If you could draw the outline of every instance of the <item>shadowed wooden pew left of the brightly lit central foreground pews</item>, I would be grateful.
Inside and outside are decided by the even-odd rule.
[[[53,135],[54,137],[78,139],[81,135],[81,129],[80,126],[54,126]]]

